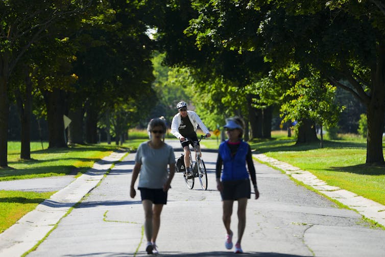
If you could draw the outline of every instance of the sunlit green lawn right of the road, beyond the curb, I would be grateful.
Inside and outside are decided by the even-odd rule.
[[[341,136],[324,141],[321,149],[319,143],[296,146],[294,138],[273,137],[249,143],[257,152],[309,171],[329,185],[385,205],[385,167],[365,165],[366,139]]]

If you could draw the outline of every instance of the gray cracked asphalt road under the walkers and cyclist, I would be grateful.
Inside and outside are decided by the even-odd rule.
[[[181,149],[178,142],[167,143]],[[203,151],[208,189],[194,189],[177,173],[161,215],[157,245],[161,256],[233,256],[224,246],[222,203],[215,185],[216,153]],[[115,167],[32,256],[147,256],[140,194],[129,197],[135,153]],[[362,216],[297,185],[287,175],[255,162],[260,191],[247,207],[243,256],[385,256],[385,230],[370,228]],[[232,230],[236,235],[236,207]],[[236,240],[236,236],[234,237]]]

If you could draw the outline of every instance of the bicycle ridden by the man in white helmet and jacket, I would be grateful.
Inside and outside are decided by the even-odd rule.
[[[200,156],[200,152],[198,151],[198,142],[201,142],[202,138],[207,138],[204,135],[201,135],[201,138],[198,141],[191,141],[191,139],[185,137],[185,142],[192,142],[193,149],[195,151],[195,163],[192,162],[191,152],[190,152],[190,167],[194,167],[192,169],[192,174],[188,176],[186,172],[184,172],[183,177],[188,189],[194,188],[195,178],[199,178],[199,182],[202,186],[203,190],[207,190],[207,172],[205,162]],[[181,153],[182,159],[184,159],[184,153]]]

